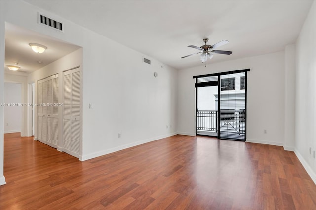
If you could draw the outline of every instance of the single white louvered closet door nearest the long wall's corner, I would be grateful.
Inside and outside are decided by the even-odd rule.
[[[63,79],[63,150],[70,155],[79,157],[80,154],[80,69],[64,72]]]

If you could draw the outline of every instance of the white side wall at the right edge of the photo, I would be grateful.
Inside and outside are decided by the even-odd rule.
[[[316,3],[296,42],[295,154],[316,183]],[[310,154],[310,148],[312,150]],[[316,155],[316,154],[315,154]]]

